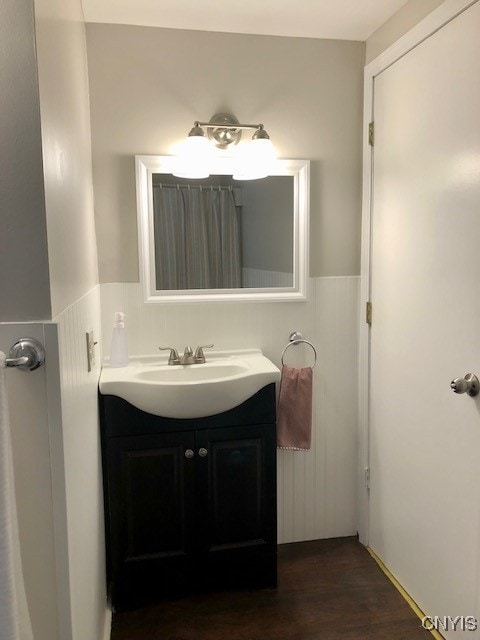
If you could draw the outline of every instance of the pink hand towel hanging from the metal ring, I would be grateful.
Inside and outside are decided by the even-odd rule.
[[[279,449],[310,449],[312,440],[312,380],[311,367],[282,367],[278,398],[277,447]]]

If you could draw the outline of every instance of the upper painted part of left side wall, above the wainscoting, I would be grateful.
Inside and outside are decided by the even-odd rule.
[[[98,283],[80,0],[35,0],[52,317]]]

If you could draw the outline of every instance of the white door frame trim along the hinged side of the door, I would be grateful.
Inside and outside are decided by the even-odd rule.
[[[361,235],[360,309],[366,309],[371,295],[371,239],[373,208],[373,156],[374,146],[369,144],[369,124],[374,115],[375,78],[397,60],[451,22],[480,0],[445,0],[415,27],[397,40],[365,67],[363,104],[363,197]],[[375,310],[373,310],[375,314]],[[369,490],[370,468],[370,325],[360,322],[359,334],[359,468],[357,492],[357,530],[359,540],[369,543]]]

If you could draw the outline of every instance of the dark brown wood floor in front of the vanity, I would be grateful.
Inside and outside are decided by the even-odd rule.
[[[281,545],[278,588],[114,615],[111,640],[429,640],[356,538]]]

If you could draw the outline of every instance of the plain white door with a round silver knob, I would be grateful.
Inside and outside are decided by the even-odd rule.
[[[369,544],[479,618],[480,396],[450,382],[480,377],[480,3],[377,76],[374,121]]]

